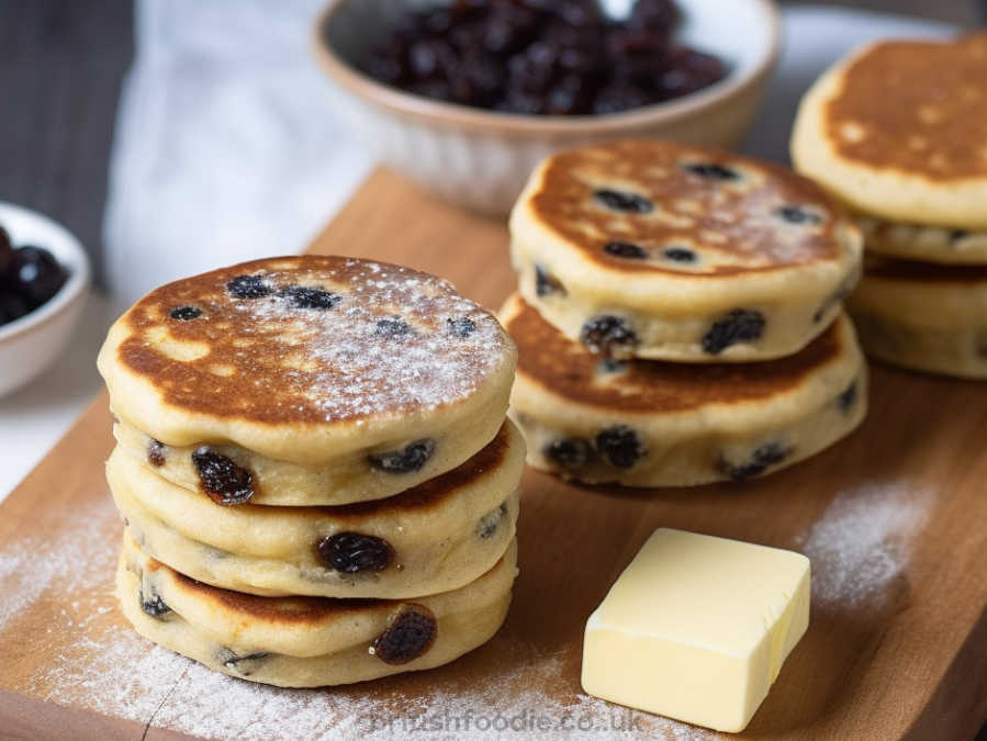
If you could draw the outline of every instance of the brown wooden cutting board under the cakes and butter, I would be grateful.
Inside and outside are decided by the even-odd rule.
[[[312,250],[420,268],[496,307],[514,284],[506,246],[502,224],[379,171]],[[872,396],[849,439],[747,484],[630,492],[528,471],[521,574],[494,640],[429,672],[283,691],[154,648],[116,611],[101,395],[0,506],[0,737],[713,738],[580,691],[586,617],[671,526],[812,560],[809,631],[744,737],[973,738],[987,718],[987,385],[874,368]]]

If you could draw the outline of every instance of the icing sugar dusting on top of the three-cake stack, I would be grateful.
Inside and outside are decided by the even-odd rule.
[[[381,274],[381,266],[367,273]],[[269,279],[285,280],[277,273]],[[368,280],[358,273],[348,282],[338,308],[330,311],[299,311],[278,297],[236,302],[258,326],[292,325],[292,341],[314,368],[289,375],[327,419],[425,409],[467,397],[503,357],[496,321],[450,293],[445,281],[429,284],[400,273]],[[399,329],[382,330],[381,322],[392,319]],[[451,322],[457,321],[470,322],[471,332],[456,334]]]

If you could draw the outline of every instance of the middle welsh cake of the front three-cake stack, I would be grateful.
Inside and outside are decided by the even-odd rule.
[[[222,507],[119,449],[106,479],[132,537],[192,579],[259,595],[404,598],[458,588],[504,554],[524,460],[505,422],[462,465],[372,502]]]

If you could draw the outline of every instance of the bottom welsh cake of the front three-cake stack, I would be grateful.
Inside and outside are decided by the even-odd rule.
[[[138,632],[210,669],[312,687],[445,664],[487,641],[511,604],[514,541],[492,569],[414,602],[257,597],[184,576],[124,537],[116,591]]]

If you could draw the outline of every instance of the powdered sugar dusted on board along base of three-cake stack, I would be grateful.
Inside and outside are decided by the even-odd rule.
[[[283,689],[235,680],[154,647],[127,628],[114,627],[104,643],[85,644],[91,661],[59,656],[45,683],[81,688],[90,707],[146,723],[211,739],[399,739],[436,738],[626,739],[640,737],[703,741],[715,733],[579,694],[550,697],[562,671],[559,656],[519,663],[481,687],[439,691],[423,697],[396,692],[380,698],[359,689]],[[521,659],[521,656],[518,656]],[[359,685],[357,686],[359,687]],[[74,693],[77,689],[72,691]]]

